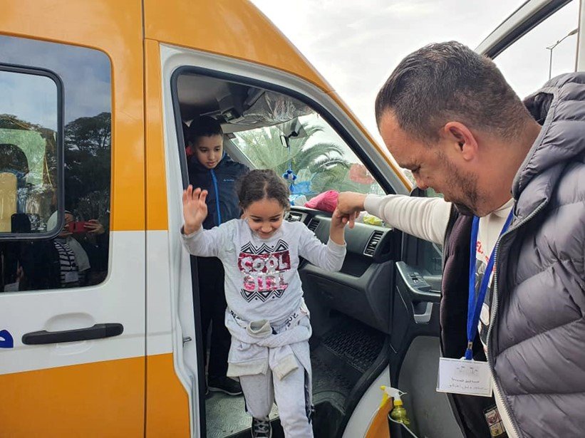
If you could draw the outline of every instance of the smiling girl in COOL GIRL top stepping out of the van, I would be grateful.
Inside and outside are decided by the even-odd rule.
[[[289,189],[271,170],[252,170],[237,186],[242,219],[202,229],[206,190],[183,192],[182,239],[195,256],[218,257],[225,270],[225,325],[232,334],[229,377],[238,377],[252,437],[271,437],[276,400],[286,438],[313,437],[309,311],[303,300],[299,257],[339,271],[346,255],[346,219],[331,217],[326,245],[301,222],[284,221]]]

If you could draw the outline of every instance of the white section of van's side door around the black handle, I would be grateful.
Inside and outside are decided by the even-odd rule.
[[[0,350],[0,375],[144,355],[144,233],[112,233],[110,251],[115,263],[98,285],[0,293],[0,321],[14,338],[14,348]],[[123,333],[68,343],[22,342],[23,335],[38,330],[56,332],[100,323],[120,323]],[[3,395],[10,396],[0,392]]]

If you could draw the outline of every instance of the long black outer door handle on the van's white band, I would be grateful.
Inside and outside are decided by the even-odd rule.
[[[62,330],[58,332],[41,330],[22,335],[22,343],[25,345],[40,345],[111,338],[112,336],[121,335],[123,331],[124,326],[120,323],[95,324],[88,328],[76,328],[74,330]]]

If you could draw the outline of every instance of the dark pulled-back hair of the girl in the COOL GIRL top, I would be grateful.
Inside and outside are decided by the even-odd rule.
[[[261,199],[276,199],[282,208],[288,209],[289,187],[282,177],[270,169],[254,169],[242,175],[236,182],[239,206],[246,209]]]

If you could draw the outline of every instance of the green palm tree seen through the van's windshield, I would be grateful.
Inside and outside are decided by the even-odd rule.
[[[311,136],[322,132],[319,125],[304,125],[306,135],[290,137],[289,148],[282,145],[282,134],[276,126],[239,132],[238,145],[254,166],[272,169],[277,174],[284,174],[289,169],[289,162],[295,174],[301,180],[328,179],[340,170],[347,170],[351,163],[343,158],[343,147],[333,142],[309,142]]]

